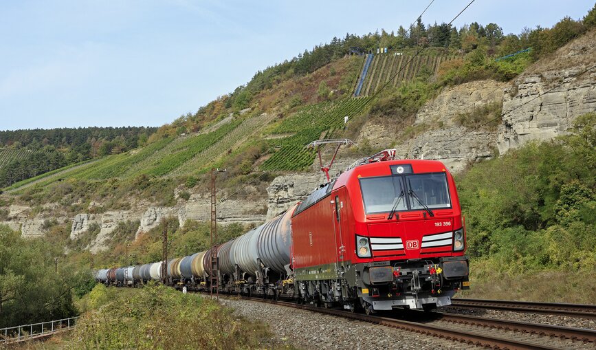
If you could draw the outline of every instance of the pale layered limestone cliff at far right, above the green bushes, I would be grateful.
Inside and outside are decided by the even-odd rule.
[[[596,72],[571,78],[583,69],[573,67],[516,80],[516,86],[504,94],[499,152],[506,153],[531,140],[544,141],[564,135],[577,116],[596,111]],[[561,82],[566,83],[556,87]]]

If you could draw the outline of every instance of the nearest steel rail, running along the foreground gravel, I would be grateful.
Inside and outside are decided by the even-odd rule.
[[[475,333],[471,331],[462,331],[460,329],[445,328],[437,325],[430,325],[421,322],[412,322],[407,320],[399,320],[396,318],[388,318],[382,316],[373,316],[365,314],[356,314],[350,311],[340,309],[327,309],[323,307],[316,307],[311,305],[296,304],[287,301],[269,300],[262,298],[239,296],[245,300],[254,300],[261,303],[269,303],[274,305],[281,305],[286,307],[294,307],[296,309],[303,309],[307,311],[319,312],[322,314],[329,314],[332,316],[339,316],[342,318],[349,318],[352,320],[360,320],[364,322],[371,322],[375,325],[383,325],[397,329],[404,329],[406,331],[414,331],[428,336],[435,336],[442,339],[452,340],[454,342],[463,342],[465,344],[473,344],[479,347],[489,347],[492,349],[511,349],[511,350],[528,350],[528,349],[563,349],[546,344],[538,344],[535,342],[525,342],[521,340],[499,338],[482,333]],[[494,319],[491,319],[494,321]],[[478,321],[479,322],[479,321]],[[503,321],[508,322],[508,321]],[[495,322],[496,323],[496,322]],[[546,333],[545,333],[546,335]],[[578,338],[579,339],[579,338]]]

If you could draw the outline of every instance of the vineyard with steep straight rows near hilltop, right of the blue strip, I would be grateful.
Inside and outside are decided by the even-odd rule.
[[[456,56],[453,55],[437,55],[437,56],[412,56],[401,54],[378,54],[373,56],[368,69],[364,72],[364,65],[360,72],[360,78],[364,74],[364,82],[362,89],[358,92],[358,96],[370,96],[374,94],[377,89],[388,83],[393,87],[406,83],[419,74],[421,70],[428,69],[431,74],[437,73],[439,65],[445,61],[449,61]],[[408,62],[412,61],[408,64]],[[397,74],[397,75],[396,75]]]

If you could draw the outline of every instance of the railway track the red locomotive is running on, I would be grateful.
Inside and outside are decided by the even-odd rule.
[[[414,331],[462,344],[492,349],[596,349],[596,331],[529,322],[482,318],[444,312],[412,311],[393,316],[355,314],[341,309],[300,305],[289,301],[241,297],[261,303],[294,307],[352,320]],[[533,312],[533,311],[532,311]]]

